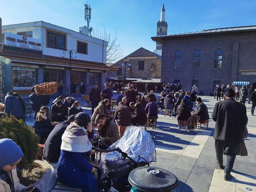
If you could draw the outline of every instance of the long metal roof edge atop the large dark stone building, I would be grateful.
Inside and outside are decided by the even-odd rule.
[[[162,43],[163,38],[176,38],[184,36],[199,36],[199,35],[208,35],[208,34],[219,34],[219,33],[232,33],[232,32],[248,32],[256,31],[256,25],[251,26],[238,26],[238,27],[225,27],[225,28],[216,28],[216,29],[204,29],[203,31],[197,32],[187,32],[187,33],[178,33],[171,35],[161,35],[151,37],[152,40]]]

